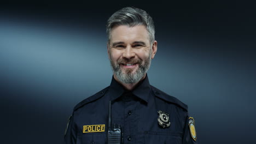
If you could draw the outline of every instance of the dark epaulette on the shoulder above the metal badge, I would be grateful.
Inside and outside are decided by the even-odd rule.
[[[184,109],[185,111],[188,111],[188,105],[182,103],[182,101],[178,100],[175,97],[172,97],[171,95],[166,94],[165,92],[160,91],[158,88],[155,88],[153,86],[151,87],[156,97],[163,99],[165,101],[168,101],[170,103],[173,103],[179,107],[182,107],[182,109]]]

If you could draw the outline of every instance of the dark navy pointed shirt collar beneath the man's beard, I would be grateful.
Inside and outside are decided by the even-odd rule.
[[[127,90],[120,84],[118,83],[115,79],[114,76],[112,76],[112,81],[110,83],[108,92],[110,94],[110,100],[115,100],[123,93],[126,93]],[[146,74],[146,77],[144,80],[138,83],[138,85],[131,91],[132,94],[134,94],[136,97],[146,101],[148,103],[148,98],[151,92],[151,87],[148,81],[148,75]]]

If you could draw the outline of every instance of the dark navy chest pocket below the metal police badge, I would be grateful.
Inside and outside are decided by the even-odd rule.
[[[145,134],[145,143],[146,144],[179,144],[182,143],[182,137],[180,134],[172,133],[156,133],[148,131]]]

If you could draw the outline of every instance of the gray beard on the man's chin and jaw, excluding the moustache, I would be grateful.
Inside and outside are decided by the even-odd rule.
[[[126,71],[127,74],[123,73],[119,64],[115,65],[115,63],[112,61],[111,58],[109,58],[109,60],[110,60],[110,64],[111,64],[113,73],[117,76],[117,79],[120,82],[122,82],[122,83],[137,83],[147,73],[147,71],[150,67],[150,64],[151,64],[151,55],[152,55],[152,51],[150,51],[150,55],[149,55],[148,59],[144,62],[144,64],[139,64],[139,67],[135,71],[135,73],[132,73],[131,70],[128,70],[128,71]]]

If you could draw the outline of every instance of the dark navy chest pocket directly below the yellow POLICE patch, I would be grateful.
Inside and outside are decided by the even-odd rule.
[[[77,144],[104,144],[106,141],[106,133],[87,133],[77,137]]]

